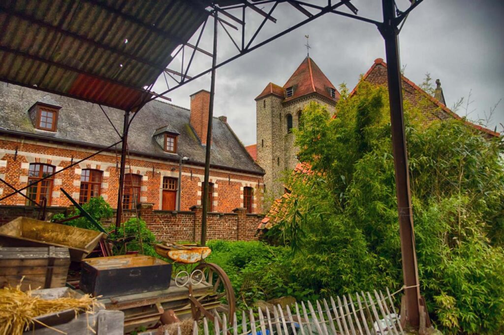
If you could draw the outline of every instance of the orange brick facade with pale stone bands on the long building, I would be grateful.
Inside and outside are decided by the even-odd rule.
[[[0,178],[5,179],[16,189],[26,187],[30,163],[46,163],[54,166],[55,171],[68,167],[89,154],[94,149],[57,144],[11,135],[0,135]],[[67,207],[70,201],[59,189],[64,188],[75,200],[79,200],[81,173],[83,169],[96,169],[102,172],[101,196],[112,206],[117,204],[118,157],[114,152],[103,152],[85,160],[54,176],[50,206]],[[131,167],[131,169],[130,169]],[[131,155],[126,166],[126,173],[142,176],[140,202],[154,204],[154,209],[161,209],[163,177],[178,178],[178,162],[150,159]],[[189,210],[193,205],[201,205],[203,166],[184,164],[182,167],[181,210]],[[243,186],[255,188],[255,213],[261,213],[263,179],[244,173],[210,170],[210,179],[214,183],[217,196],[214,211],[230,212],[241,207],[240,190]],[[221,191],[222,190],[222,191]],[[0,183],[0,197],[12,190]],[[22,191],[26,194],[26,190]],[[178,195],[177,195],[178,196]],[[0,202],[0,205],[25,206],[26,200],[21,195],[14,195]]]

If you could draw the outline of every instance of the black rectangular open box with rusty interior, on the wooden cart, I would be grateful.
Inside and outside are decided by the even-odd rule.
[[[84,260],[81,266],[80,289],[95,297],[151,292],[170,286],[172,265],[151,256],[99,257]]]

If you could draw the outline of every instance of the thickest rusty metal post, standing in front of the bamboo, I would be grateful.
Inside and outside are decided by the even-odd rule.
[[[413,210],[408,173],[408,152],[404,130],[402,80],[399,60],[398,29],[395,25],[394,0],[382,0],[384,23],[379,30],[385,39],[389,85],[392,148],[396,175],[399,234],[403,266],[406,315],[405,321],[418,329],[420,325],[420,287],[413,230]],[[401,315],[404,317],[404,315]]]

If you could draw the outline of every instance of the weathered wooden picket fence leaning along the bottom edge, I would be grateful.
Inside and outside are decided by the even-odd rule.
[[[388,289],[385,295],[374,290],[313,303],[295,303],[292,309],[286,306],[283,310],[280,305],[274,306],[273,310],[266,308],[265,312],[261,308],[257,311],[249,309],[247,313],[242,311],[241,322],[237,321],[235,313],[230,325],[225,314],[215,312],[219,322],[210,322],[207,318],[203,322],[195,321],[193,335],[403,334],[392,299],[394,294],[391,295]],[[180,327],[177,330],[177,335],[181,335]]]

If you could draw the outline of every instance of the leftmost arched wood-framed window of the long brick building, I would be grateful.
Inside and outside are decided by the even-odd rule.
[[[47,178],[39,182],[42,178],[52,175],[54,166],[42,163],[31,163],[28,170],[28,191],[27,197],[40,204],[43,198],[47,201],[47,206],[51,204],[52,181],[53,178]],[[38,182],[38,183],[37,183]],[[33,205],[30,201],[26,201],[27,205]]]

